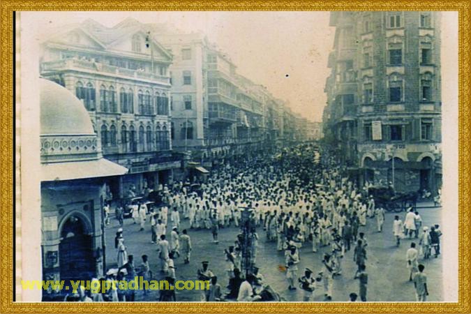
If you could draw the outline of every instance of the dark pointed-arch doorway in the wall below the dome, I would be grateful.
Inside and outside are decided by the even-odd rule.
[[[61,228],[59,263],[61,280],[89,280],[96,275],[91,234],[84,218],[71,215]]]

